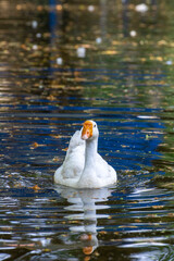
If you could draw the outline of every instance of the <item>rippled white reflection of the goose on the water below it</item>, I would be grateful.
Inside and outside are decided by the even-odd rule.
[[[75,223],[70,226],[70,231],[79,235],[83,252],[92,253],[99,244],[98,229],[102,228],[97,226],[97,221],[109,216],[97,213],[97,210],[109,208],[105,201],[111,196],[112,189],[74,189],[59,186],[55,190],[70,202],[70,206],[64,207],[70,211],[70,214],[64,217]]]

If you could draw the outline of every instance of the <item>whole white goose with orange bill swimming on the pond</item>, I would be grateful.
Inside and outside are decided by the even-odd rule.
[[[70,140],[63,164],[54,182],[74,188],[100,188],[116,182],[116,172],[97,152],[99,130],[96,122],[86,121]]]

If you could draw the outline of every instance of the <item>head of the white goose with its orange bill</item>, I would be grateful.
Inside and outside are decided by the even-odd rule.
[[[92,140],[99,137],[99,130],[97,127],[97,123],[88,120],[84,122],[82,129],[82,139],[84,140]]]

